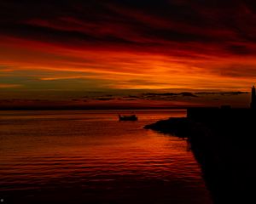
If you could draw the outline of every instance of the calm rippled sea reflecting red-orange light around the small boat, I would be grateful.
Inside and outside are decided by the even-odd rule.
[[[143,126],[185,111],[0,111],[2,203],[212,203],[183,139]]]

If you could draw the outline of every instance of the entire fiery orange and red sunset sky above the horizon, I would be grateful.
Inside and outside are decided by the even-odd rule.
[[[0,2],[2,105],[246,106],[254,82],[253,0]]]

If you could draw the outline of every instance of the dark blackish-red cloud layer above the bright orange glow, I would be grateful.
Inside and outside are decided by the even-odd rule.
[[[1,34],[6,36],[81,48],[123,47],[166,54],[175,49],[179,55],[200,53],[202,43],[208,54],[214,53],[212,49],[223,54],[256,53],[253,1],[10,0],[0,7]],[[190,49],[187,43],[193,44]]]

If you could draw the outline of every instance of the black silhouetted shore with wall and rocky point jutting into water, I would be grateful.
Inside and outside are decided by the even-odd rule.
[[[145,128],[187,138],[214,203],[256,203],[256,111],[194,108]]]

